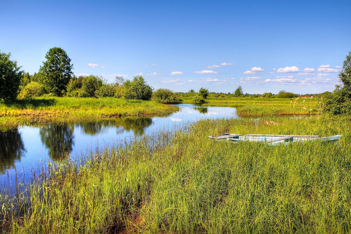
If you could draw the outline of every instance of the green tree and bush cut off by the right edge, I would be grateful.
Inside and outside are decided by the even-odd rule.
[[[332,114],[351,114],[351,51],[346,56],[339,79],[342,85],[337,85],[334,92],[326,96],[324,111]]]

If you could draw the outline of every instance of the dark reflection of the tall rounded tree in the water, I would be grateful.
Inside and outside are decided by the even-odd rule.
[[[48,148],[49,156],[54,161],[64,159],[72,152],[74,145],[73,126],[67,123],[51,123],[41,126],[39,130],[41,142]]]

